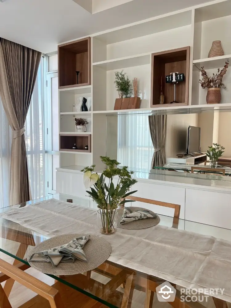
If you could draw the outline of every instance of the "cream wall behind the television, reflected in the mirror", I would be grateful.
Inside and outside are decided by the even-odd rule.
[[[187,149],[188,126],[198,126],[198,114],[167,115],[165,154],[175,157]]]

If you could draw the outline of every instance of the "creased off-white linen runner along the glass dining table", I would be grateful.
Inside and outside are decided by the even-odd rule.
[[[231,242],[157,225],[99,233],[97,211],[55,199],[0,213],[43,235],[96,234],[111,245],[108,261],[185,288],[221,288],[217,298],[231,302]]]

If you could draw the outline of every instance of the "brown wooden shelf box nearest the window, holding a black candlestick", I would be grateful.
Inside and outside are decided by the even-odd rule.
[[[58,46],[59,88],[91,84],[91,38]],[[79,71],[78,84],[76,71]]]

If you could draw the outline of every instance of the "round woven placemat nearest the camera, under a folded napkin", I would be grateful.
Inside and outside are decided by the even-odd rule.
[[[60,245],[67,244],[73,238],[81,237],[86,234],[63,234],[56,237],[52,237],[49,240],[43,241],[34,246],[33,249],[27,254],[27,260],[30,259],[33,253],[37,253],[43,250],[51,249]],[[36,262],[28,261],[30,266],[36,270],[43,272],[44,274],[52,275],[75,275],[86,272],[88,270],[94,270],[101,265],[111,253],[111,246],[102,237],[91,235],[91,238],[83,247],[83,251],[87,257],[87,263],[76,260],[73,263],[60,262],[57,267],[53,267],[51,262]],[[46,258],[44,257],[44,260]]]

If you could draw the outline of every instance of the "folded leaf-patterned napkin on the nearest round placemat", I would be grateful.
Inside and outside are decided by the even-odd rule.
[[[83,246],[90,237],[90,235],[77,237],[65,245],[34,253],[29,261],[51,262],[54,267],[57,267],[59,262],[74,262],[76,259],[87,262]]]

